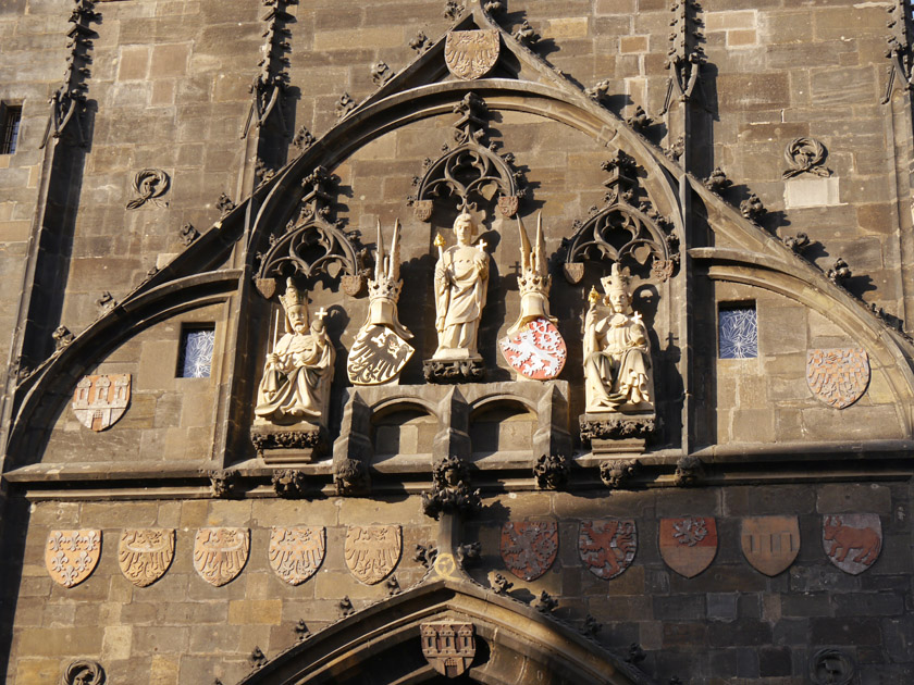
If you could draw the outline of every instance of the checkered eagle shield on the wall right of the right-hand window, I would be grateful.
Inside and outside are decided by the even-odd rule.
[[[835,409],[857,401],[869,385],[869,357],[862,347],[810,350],[806,384],[816,398]]]

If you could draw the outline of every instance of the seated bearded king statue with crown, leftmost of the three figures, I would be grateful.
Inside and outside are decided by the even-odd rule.
[[[326,312],[321,310],[309,324],[308,296],[292,278],[280,302],[285,310],[285,334],[276,341],[274,331],[254,413],[277,425],[323,424],[334,360],[323,322]]]

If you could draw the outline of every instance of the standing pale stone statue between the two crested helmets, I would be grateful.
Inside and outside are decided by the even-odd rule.
[[[435,328],[439,347],[433,359],[456,360],[479,357],[477,336],[485,290],[489,285],[489,254],[485,242],[472,245],[477,226],[466,211],[454,221],[457,245],[442,250],[436,239]],[[441,236],[439,236],[441,238]]]

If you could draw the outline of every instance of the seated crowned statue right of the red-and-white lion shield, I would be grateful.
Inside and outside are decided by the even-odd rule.
[[[654,409],[651,347],[641,314],[632,312],[629,275],[613,264],[591,289],[584,317],[584,388],[588,413],[647,412]]]

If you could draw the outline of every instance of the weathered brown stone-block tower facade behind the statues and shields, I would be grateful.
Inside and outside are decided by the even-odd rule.
[[[0,102],[22,107],[0,155],[7,682],[418,682],[448,673],[421,636],[452,624],[466,682],[914,680],[909,24],[893,1],[0,0]],[[455,68],[468,45],[480,61]],[[490,256],[482,362],[430,375],[436,237],[455,244],[460,209]],[[567,346],[547,382],[498,349],[538,214]],[[416,353],[353,386],[397,220]],[[650,416],[585,413],[588,294],[615,262]],[[335,369],[325,426],[271,433],[264,457],[287,277],[325,310]],[[209,375],[182,377],[195,331],[214,332]],[[74,413],[83,377],[125,374],[110,426]],[[799,539],[774,575],[741,533],[764,516],[799,526],[773,530]],[[612,519],[634,533],[583,550]],[[324,541],[284,580],[274,528],[305,526]],[[347,547],[353,526],[386,528]],[[174,531],[145,586],[119,561],[137,528]],[[195,547],[205,528],[249,546],[218,586],[195,569],[222,553]],[[100,532],[88,574],[54,543],[76,531]],[[711,560],[674,570],[664,550],[711,555],[707,531]]]

